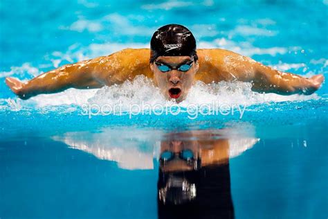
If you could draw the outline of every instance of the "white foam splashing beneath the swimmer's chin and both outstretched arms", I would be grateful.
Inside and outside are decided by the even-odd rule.
[[[259,94],[251,91],[251,85],[247,82],[219,82],[206,85],[196,82],[190,89],[185,100],[179,105],[187,107],[188,104],[212,105],[213,102],[227,105],[254,105],[259,103],[282,102],[293,100],[309,100],[317,98],[316,94],[310,96],[294,94],[280,96],[277,94]],[[165,100],[152,79],[145,76],[137,76],[133,81],[125,81],[122,85],[102,87],[101,89],[68,89],[57,94],[42,94],[29,100],[17,100],[19,105],[37,107],[56,105],[122,105],[123,112],[127,112],[129,106],[143,105],[154,106],[156,104],[170,106],[175,104],[173,100]],[[131,108],[130,108],[131,109]]]

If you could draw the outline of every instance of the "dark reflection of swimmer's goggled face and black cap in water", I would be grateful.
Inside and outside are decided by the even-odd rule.
[[[163,141],[158,217],[234,218],[229,147],[228,139]]]

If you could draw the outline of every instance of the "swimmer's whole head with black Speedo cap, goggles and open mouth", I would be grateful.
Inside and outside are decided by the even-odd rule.
[[[150,67],[156,85],[166,98],[181,102],[199,69],[194,36],[179,24],[162,26],[152,36],[150,51]]]

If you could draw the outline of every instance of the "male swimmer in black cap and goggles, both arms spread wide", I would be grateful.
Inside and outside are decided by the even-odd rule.
[[[167,99],[181,102],[197,80],[251,82],[253,91],[282,95],[312,94],[324,77],[304,78],[266,67],[248,57],[224,49],[196,49],[194,36],[184,26],[162,26],[152,36],[149,49],[123,49],[108,56],[66,64],[21,82],[6,78],[12,91],[22,99],[51,94],[71,87],[100,88],[120,84],[144,75]]]

